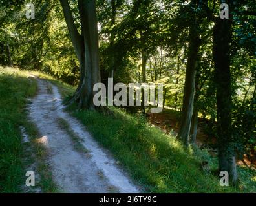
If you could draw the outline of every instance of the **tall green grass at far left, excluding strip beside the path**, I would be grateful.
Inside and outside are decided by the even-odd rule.
[[[36,82],[16,68],[0,67],[0,192],[19,192],[24,183],[23,147],[19,126],[26,98],[36,93]]]

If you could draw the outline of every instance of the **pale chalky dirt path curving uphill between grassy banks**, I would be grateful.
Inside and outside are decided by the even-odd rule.
[[[63,111],[61,96],[56,86],[47,80],[37,79],[38,93],[28,111],[36,123],[47,147],[48,163],[54,182],[62,192],[139,192],[125,172],[107,151],[99,147],[85,128]],[[50,88],[50,89],[49,89]],[[79,138],[87,154],[73,147],[72,138],[58,119],[63,118]]]

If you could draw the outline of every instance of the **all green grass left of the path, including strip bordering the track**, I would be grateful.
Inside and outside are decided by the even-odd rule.
[[[45,165],[45,150],[36,143],[37,129],[27,118],[27,98],[36,94],[37,82],[29,71],[0,67],[0,192],[23,192],[26,168],[37,163],[36,187],[43,192],[57,191]],[[19,126],[26,129],[30,142],[22,143]]]

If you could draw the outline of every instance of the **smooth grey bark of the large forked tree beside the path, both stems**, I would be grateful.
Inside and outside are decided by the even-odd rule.
[[[100,82],[100,58],[98,49],[98,27],[95,0],[78,0],[81,35],[74,24],[74,18],[67,0],[60,0],[70,38],[80,62],[80,83],[72,102],[79,108],[95,109],[93,86]]]

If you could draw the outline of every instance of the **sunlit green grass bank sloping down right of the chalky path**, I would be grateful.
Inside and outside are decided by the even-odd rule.
[[[64,99],[74,93],[74,88],[61,81],[47,75],[41,77],[58,86]],[[200,149],[184,149],[173,134],[165,135],[144,117],[111,109],[113,116],[78,111],[74,105],[69,111],[146,192],[256,192],[254,170],[239,166],[239,186],[220,187],[219,177],[200,167],[202,161],[208,161],[210,169],[215,171],[217,158]]]

